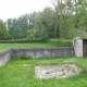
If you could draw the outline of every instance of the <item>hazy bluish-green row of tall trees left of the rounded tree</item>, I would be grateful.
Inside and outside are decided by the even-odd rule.
[[[11,39],[23,39],[27,37],[27,29],[34,28],[36,12],[24,14],[18,18],[8,18],[5,25],[9,28]]]

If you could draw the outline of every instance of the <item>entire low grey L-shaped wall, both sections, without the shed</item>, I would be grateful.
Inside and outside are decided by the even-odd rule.
[[[33,59],[39,57],[47,57],[47,58],[65,57],[65,55],[73,55],[73,47],[7,49],[0,51],[0,66],[4,65],[11,59],[11,54],[15,57],[32,57]]]

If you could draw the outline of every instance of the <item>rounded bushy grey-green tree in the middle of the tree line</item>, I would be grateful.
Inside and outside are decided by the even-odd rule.
[[[38,12],[35,17],[35,28],[38,29],[39,38],[53,38],[54,37],[54,11],[51,8],[44,9]]]

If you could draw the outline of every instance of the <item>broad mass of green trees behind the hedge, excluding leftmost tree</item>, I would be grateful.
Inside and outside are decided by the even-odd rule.
[[[50,0],[50,2],[54,9],[47,7],[39,12],[8,18],[5,29],[8,28],[9,39],[87,37],[86,0]],[[7,30],[4,32],[7,34]],[[0,29],[0,35],[4,36],[2,33]]]

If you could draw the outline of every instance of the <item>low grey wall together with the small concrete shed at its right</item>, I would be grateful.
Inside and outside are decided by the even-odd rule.
[[[37,59],[40,57],[86,57],[87,55],[87,38],[75,38],[73,47],[58,47],[58,48],[28,48],[28,49],[7,49],[0,51],[0,65],[4,65],[10,61],[11,55],[15,57],[32,57]]]

